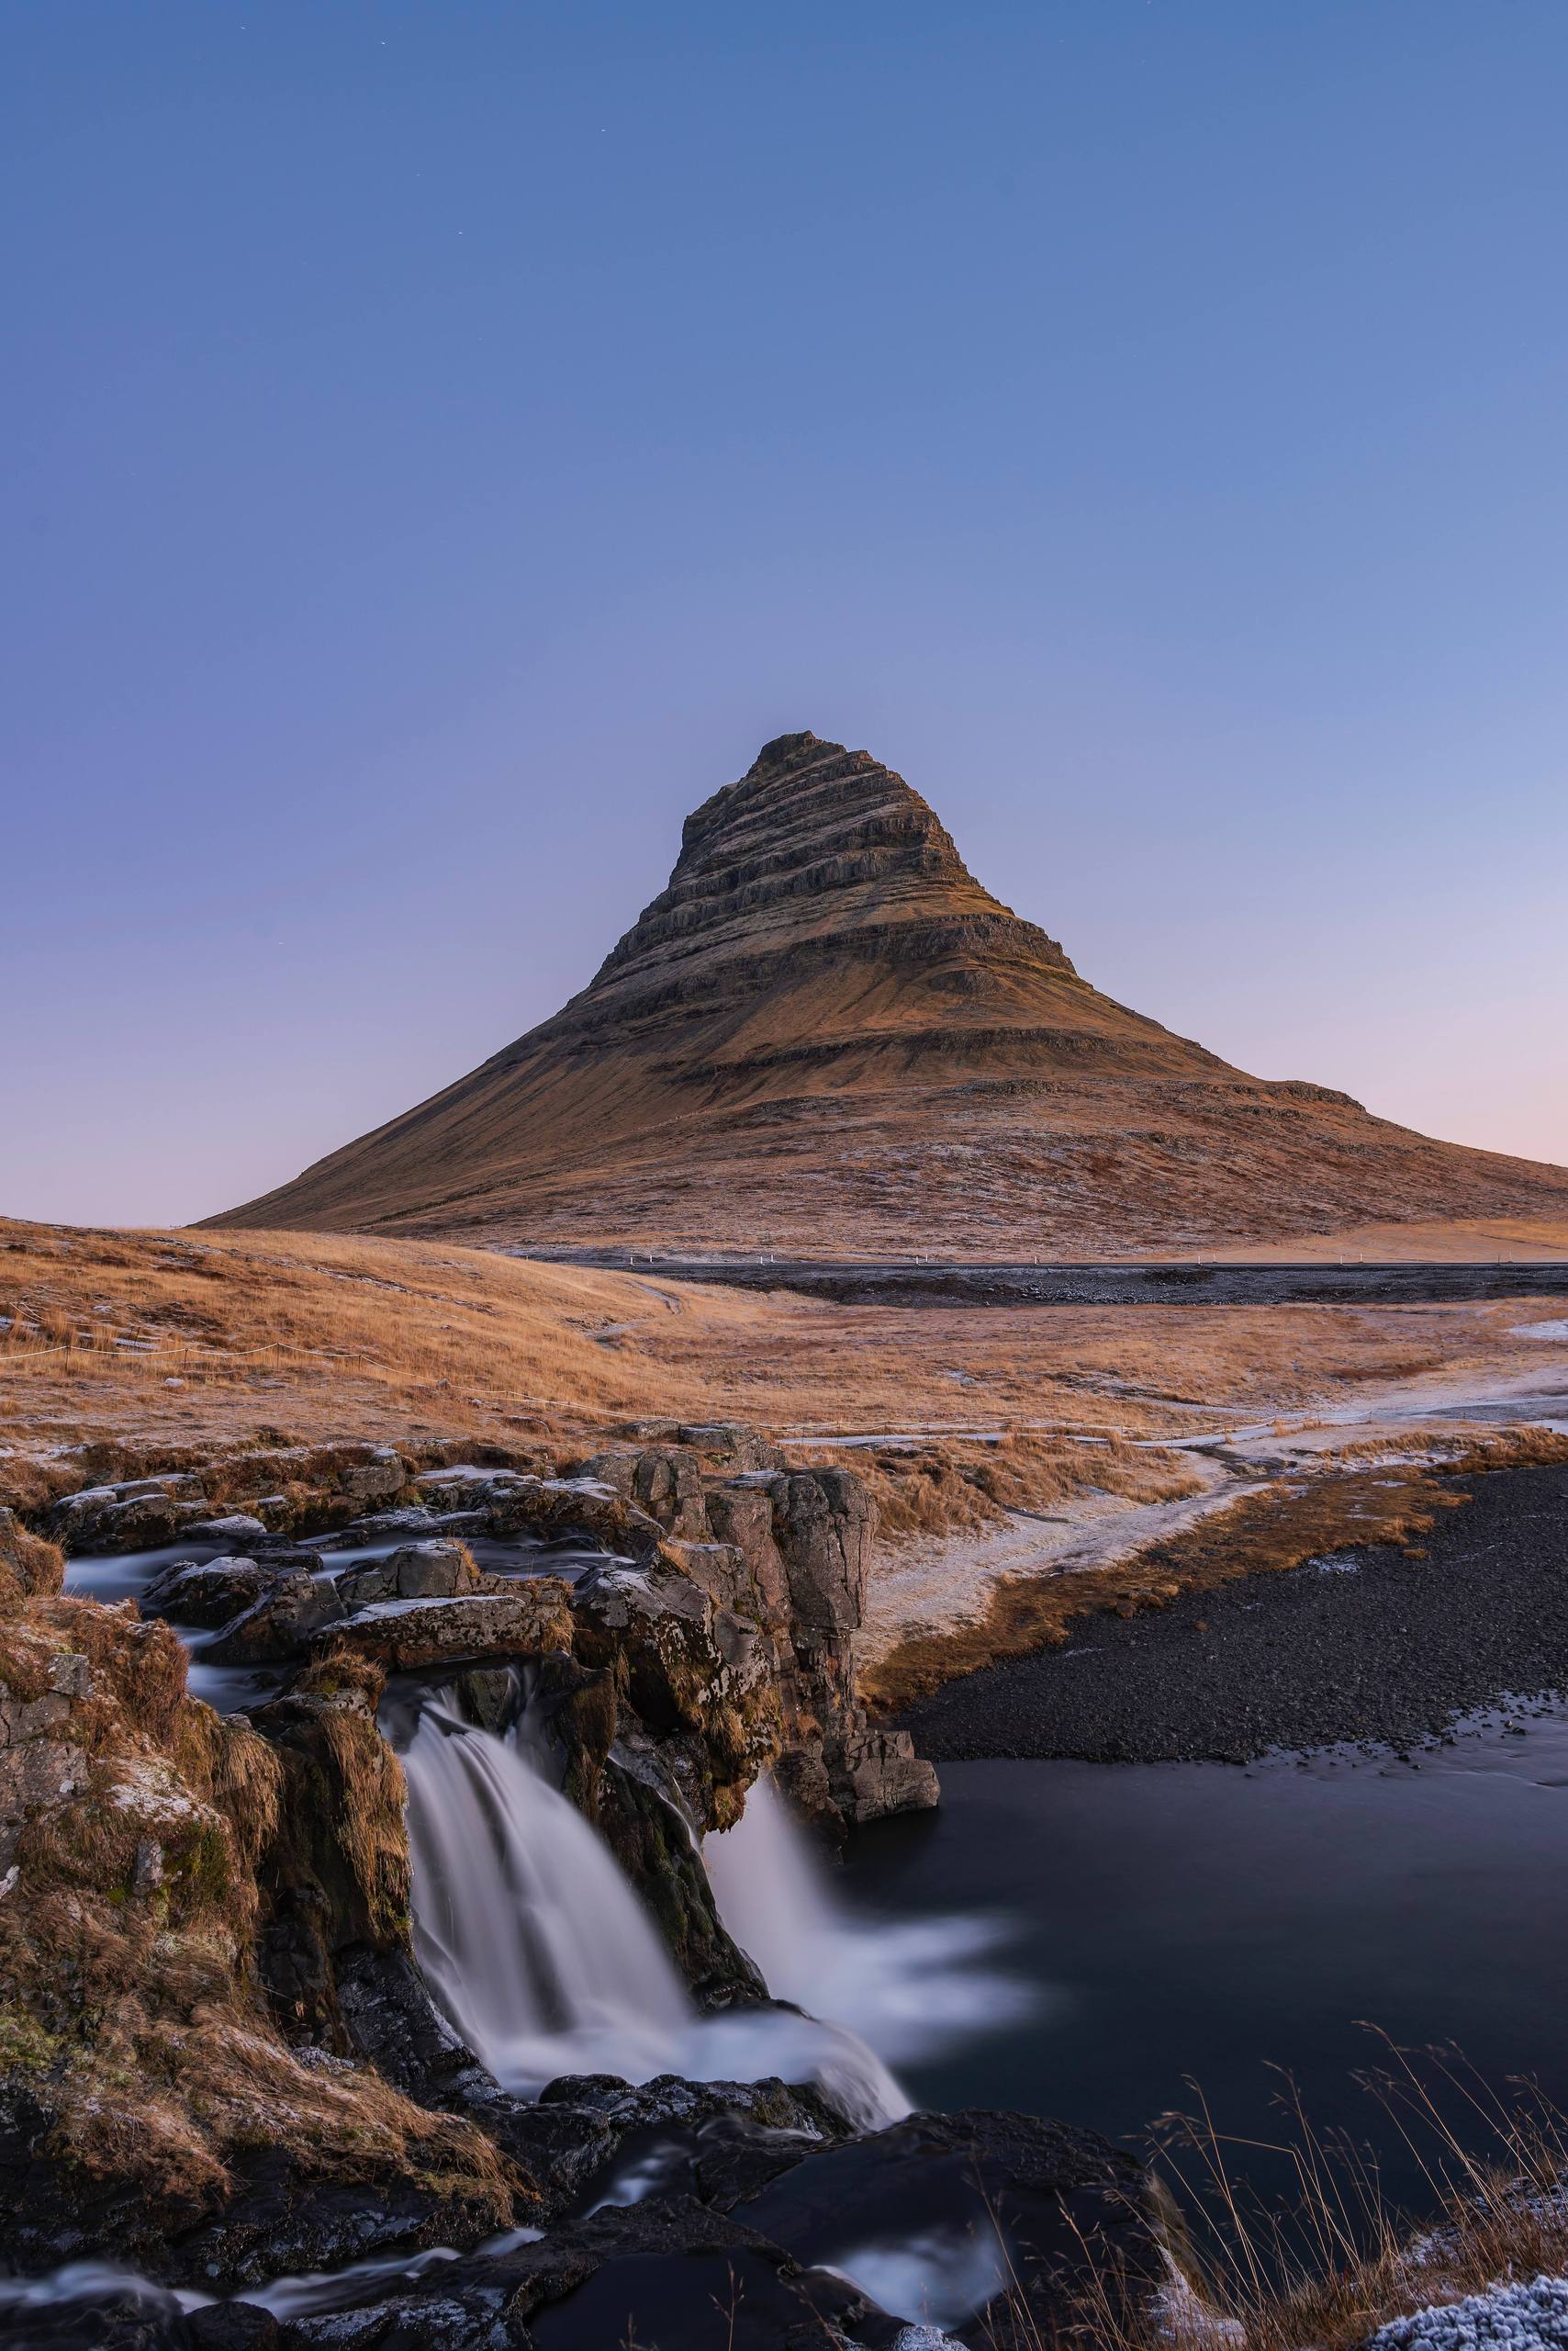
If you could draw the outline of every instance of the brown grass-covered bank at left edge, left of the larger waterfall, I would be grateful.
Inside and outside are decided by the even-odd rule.
[[[0,1709],[19,1773],[0,1806],[0,2071],[52,2158],[136,2182],[150,2231],[280,2142],[320,2177],[411,2175],[503,2224],[524,2184],[473,2125],[280,2038],[249,1956],[282,1763],[186,1695],[172,1629],[129,1606],[16,1606]]]

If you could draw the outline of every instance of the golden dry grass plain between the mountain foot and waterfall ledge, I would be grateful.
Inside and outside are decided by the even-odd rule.
[[[63,1491],[82,1444],[122,1453],[94,1474],[263,1434],[567,1460],[637,1420],[741,1420],[802,1458],[823,1436],[917,1434],[914,1455],[844,1460],[889,1533],[961,1531],[1081,1486],[1182,1491],[1150,1486],[1124,1439],[1537,1371],[1542,1349],[1509,1328],[1528,1312],[842,1307],[435,1241],[0,1223],[0,1491]],[[1088,1436],[1112,1444],[1091,1460]]]

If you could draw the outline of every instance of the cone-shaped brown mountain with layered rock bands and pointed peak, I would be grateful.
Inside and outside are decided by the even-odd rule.
[[[592,983],[216,1225],[1121,1255],[1563,1215],[1568,1171],[1269,1084],[1079,978],[870,752],[778,736]]]

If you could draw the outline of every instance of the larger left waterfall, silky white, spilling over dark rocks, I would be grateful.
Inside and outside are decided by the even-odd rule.
[[[860,2128],[910,2111],[846,2027],[788,2010],[698,2015],[637,1893],[512,1735],[428,1700],[404,1756],[414,1947],[508,2090],[559,2074],[816,2081]]]

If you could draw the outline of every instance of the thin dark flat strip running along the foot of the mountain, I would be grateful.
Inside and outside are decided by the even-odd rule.
[[[534,1251],[517,1251],[534,1255]],[[1067,1307],[1067,1305],[1427,1305],[1460,1298],[1568,1298],[1568,1258],[1549,1262],[1401,1265],[952,1265],[926,1260],[665,1258],[611,1248],[538,1251],[564,1265],[604,1265],[726,1281],[748,1291],[804,1291],[842,1305]]]

